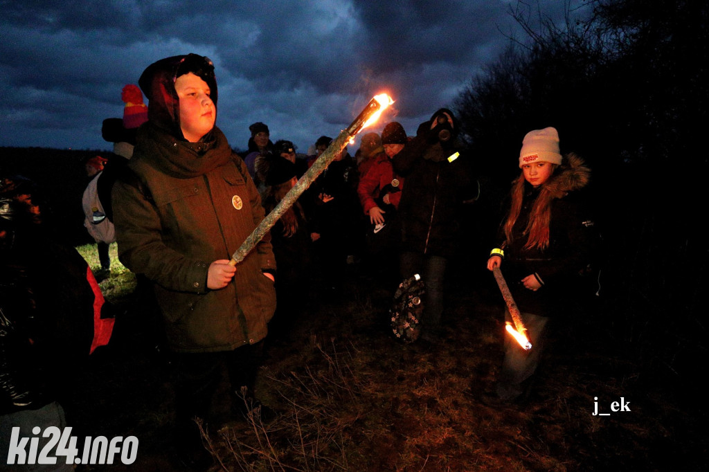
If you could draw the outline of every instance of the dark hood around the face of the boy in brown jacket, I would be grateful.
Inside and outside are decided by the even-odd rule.
[[[208,57],[196,54],[172,56],[150,64],[138,79],[140,89],[148,99],[147,119],[157,128],[166,130],[178,140],[184,140],[179,120],[179,97],[175,90],[177,77],[192,72],[207,83],[214,108],[217,109],[217,82],[214,64]],[[203,138],[209,139],[210,133]]]

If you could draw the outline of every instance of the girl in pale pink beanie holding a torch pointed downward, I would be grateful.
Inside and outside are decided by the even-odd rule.
[[[562,311],[568,283],[583,269],[586,227],[593,225],[581,218],[577,203],[578,191],[588,184],[591,172],[576,154],[562,157],[556,129],[525,135],[519,167],[522,172],[512,184],[500,244],[487,262],[491,271],[504,270],[532,342],[532,349],[525,351],[512,337],[505,338],[496,393],[507,402],[522,395],[535,373],[547,322]],[[509,310],[506,320],[511,322]]]

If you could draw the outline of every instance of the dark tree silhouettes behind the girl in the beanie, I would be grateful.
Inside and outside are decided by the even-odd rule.
[[[521,3],[521,2],[520,2]],[[709,106],[709,4],[597,0],[563,26],[522,9],[527,39],[471,79],[457,113],[493,193],[518,172],[524,134],[552,125],[562,152],[593,169],[605,240],[599,322],[640,346],[647,369],[693,383],[707,347],[703,186]],[[700,227],[701,226],[701,227]],[[690,363],[691,364],[691,363]]]

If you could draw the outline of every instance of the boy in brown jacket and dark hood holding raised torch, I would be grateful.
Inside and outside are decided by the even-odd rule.
[[[264,217],[242,159],[216,127],[211,60],[195,54],[151,64],[138,82],[149,100],[130,174],[113,189],[118,257],[152,281],[177,369],[177,440],[184,461],[205,454],[191,420],[211,420],[226,364],[235,410],[253,397],[262,340],[275,309],[269,235],[228,264]],[[236,412],[236,411],[235,411]]]

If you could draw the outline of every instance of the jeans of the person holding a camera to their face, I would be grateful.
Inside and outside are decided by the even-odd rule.
[[[447,259],[418,252],[403,252],[399,258],[399,269],[403,280],[419,274],[426,287],[423,308],[423,325],[438,327],[443,312],[443,281]]]

